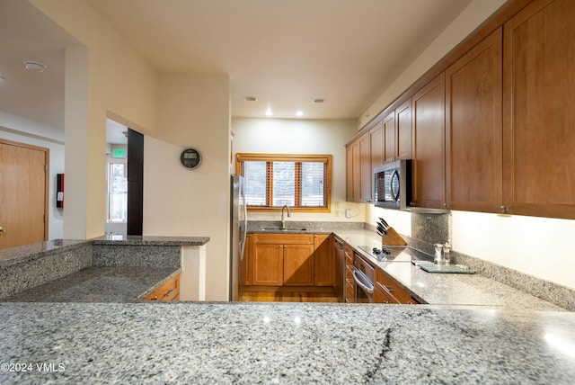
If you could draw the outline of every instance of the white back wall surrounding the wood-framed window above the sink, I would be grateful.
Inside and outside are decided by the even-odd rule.
[[[345,201],[345,144],[356,133],[356,124],[354,120],[234,118],[234,158],[238,152],[332,154],[332,211],[293,212],[288,220],[363,222],[364,205]],[[351,211],[349,219],[346,209]],[[279,220],[279,213],[252,211],[248,219]]]

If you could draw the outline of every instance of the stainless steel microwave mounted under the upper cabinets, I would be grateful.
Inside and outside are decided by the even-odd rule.
[[[411,159],[396,160],[374,168],[377,207],[407,210],[411,205]]]

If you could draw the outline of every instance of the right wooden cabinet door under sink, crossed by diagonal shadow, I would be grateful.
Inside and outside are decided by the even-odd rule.
[[[314,245],[284,245],[284,285],[314,285]]]

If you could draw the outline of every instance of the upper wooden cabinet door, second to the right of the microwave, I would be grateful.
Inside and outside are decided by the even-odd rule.
[[[446,71],[449,209],[498,212],[503,201],[501,32]]]

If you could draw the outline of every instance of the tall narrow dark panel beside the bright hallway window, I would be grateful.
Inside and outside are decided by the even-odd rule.
[[[144,135],[128,129],[128,236],[142,235]]]

